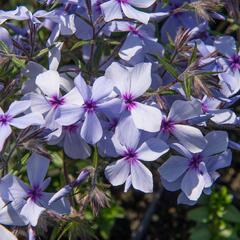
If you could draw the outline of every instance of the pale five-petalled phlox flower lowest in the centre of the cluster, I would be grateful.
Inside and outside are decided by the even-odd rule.
[[[113,186],[125,183],[125,191],[133,185],[135,189],[142,192],[152,192],[152,173],[141,161],[157,160],[169,148],[166,143],[156,138],[151,138],[139,145],[140,133],[134,128],[132,119],[126,118],[122,121],[125,129],[122,142],[119,142],[116,135],[113,138],[116,152],[121,159],[105,168],[105,176]]]

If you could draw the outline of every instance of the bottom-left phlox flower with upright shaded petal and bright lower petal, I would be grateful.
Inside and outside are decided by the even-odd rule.
[[[49,159],[41,155],[35,153],[31,155],[27,162],[30,186],[13,175],[6,175],[1,181],[1,198],[5,202],[11,202],[13,208],[16,207],[18,212],[16,217],[20,217],[25,225],[36,226],[40,215],[46,209],[58,214],[68,214],[70,212],[70,205],[66,199],[48,205],[49,200],[54,195],[54,193],[44,192],[51,181],[50,178],[45,179],[49,162]],[[2,211],[5,214],[2,214]],[[11,218],[9,214],[10,212],[6,212],[2,208],[0,210],[0,223],[4,222],[6,218]],[[12,223],[9,221],[9,225],[18,225],[17,218],[12,219]]]

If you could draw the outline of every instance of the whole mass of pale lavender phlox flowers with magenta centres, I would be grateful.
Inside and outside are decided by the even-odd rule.
[[[195,1],[159,2],[41,0],[34,12],[0,11],[7,49],[0,61],[24,59],[17,90],[11,95],[0,83],[7,93],[0,96],[1,224],[28,226],[34,239],[40,216],[70,215],[72,190],[83,182],[93,189],[97,174],[124,192],[156,192],[158,179],[179,192],[179,204],[211,194],[218,170],[240,149],[224,128],[239,127],[240,54],[232,36],[211,36],[209,19],[184,9]],[[224,21],[214,10],[209,15]],[[41,31],[49,35],[40,41]],[[102,47],[115,39],[116,48]],[[39,139],[46,150],[26,144]],[[72,162],[97,164],[48,191],[53,146]],[[18,148],[29,154],[26,176],[8,167]]]

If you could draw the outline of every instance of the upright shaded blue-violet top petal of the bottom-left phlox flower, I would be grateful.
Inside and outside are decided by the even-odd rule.
[[[40,186],[47,174],[50,160],[42,155],[33,153],[27,162],[27,175],[31,185]]]

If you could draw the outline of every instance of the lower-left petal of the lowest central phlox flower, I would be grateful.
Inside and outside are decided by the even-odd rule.
[[[105,168],[105,177],[113,186],[122,185],[130,173],[130,165],[125,158],[111,163]]]

